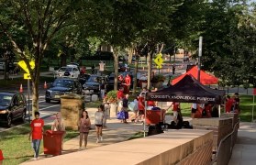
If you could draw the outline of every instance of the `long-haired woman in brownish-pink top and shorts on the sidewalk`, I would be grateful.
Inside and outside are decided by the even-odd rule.
[[[88,112],[83,110],[81,118],[78,122],[80,139],[79,139],[79,149],[85,149],[87,146],[87,138],[89,134],[89,129],[91,127],[91,121],[88,115]],[[82,142],[84,137],[84,147],[82,148]]]

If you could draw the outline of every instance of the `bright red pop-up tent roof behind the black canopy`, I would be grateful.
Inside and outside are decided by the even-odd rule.
[[[198,67],[194,66],[191,70],[185,72],[183,75],[180,75],[179,77],[173,79],[173,84],[180,82],[184,78],[185,75],[192,75],[197,79],[198,74]],[[216,84],[218,82],[217,77],[206,73],[205,71],[200,70],[200,82],[203,84]]]

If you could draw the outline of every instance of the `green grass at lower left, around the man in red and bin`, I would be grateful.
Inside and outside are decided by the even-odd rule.
[[[45,130],[50,126],[44,126]],[[28,141],[29,124],[13,127],[5,132],[0,132],[0,148],[5,157],[4,164],[16,165],[33,158],[33,149]],[[77,137],[77,131],[67,130],[64,141]],[[43,152],[43,144],[40,145],[40,152]]]

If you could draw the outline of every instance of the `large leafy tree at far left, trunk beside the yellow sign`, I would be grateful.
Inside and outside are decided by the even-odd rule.
[[[27,63],[32,82],[32,110],[37,111],[39,66],[44,52],[62,28],[73,24],[75,15],[81,9],[80,1],[3,0],[0,7],[0,28],[16,49],[17,55]],[[35,60],[34,70],[28,64],[30,60]]]

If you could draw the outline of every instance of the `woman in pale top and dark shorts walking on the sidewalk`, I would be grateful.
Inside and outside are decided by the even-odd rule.
[[[103,141],[102,137],[102,128],[103,128],[103,121],[104,121],[104,106],[99,105],[98,111],[95,112],[95,129],[96,129],[96,143],[99,141]]]

